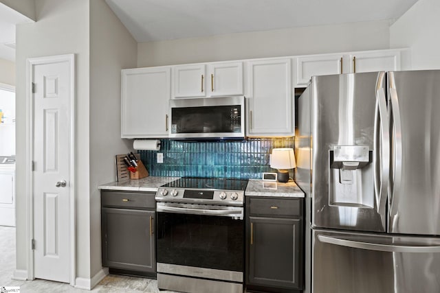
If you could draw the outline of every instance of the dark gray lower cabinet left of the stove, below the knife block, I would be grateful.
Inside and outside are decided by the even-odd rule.
[[[155,277],[155,194],[101,191],[102,266]]]

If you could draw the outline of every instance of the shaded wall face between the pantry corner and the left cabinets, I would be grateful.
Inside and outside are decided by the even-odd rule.
[[[91,276],[101,270],[98,185],[115,181],[115,154],[133,149],[120,138],[121,69],[136,67],[137,43],[104,0],[90,1]]]

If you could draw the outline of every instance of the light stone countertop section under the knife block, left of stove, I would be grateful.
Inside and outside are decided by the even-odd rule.
[[[156,192],[157,189],[173,180],[179,179],[179,177],[159,177],[159,176],[148,176],[146,178],[138,180],[127,180],[123,182],[112,182],[99,185],[98,189],[106,190],[122,190],[122,191],[153,191]]]

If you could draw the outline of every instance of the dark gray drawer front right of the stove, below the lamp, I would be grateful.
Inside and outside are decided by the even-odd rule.
[[[246,204],[250,215],[303,216],[303,200],[298,198],[248,198]]]

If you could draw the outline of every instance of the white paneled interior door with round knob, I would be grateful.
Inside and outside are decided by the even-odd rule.
[[[71,60],[32,65],[34,277],[69,283],[72,269]]]

